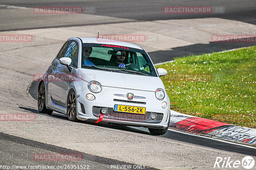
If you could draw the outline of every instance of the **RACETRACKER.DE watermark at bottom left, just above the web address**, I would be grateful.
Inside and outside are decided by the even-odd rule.
[[[81,161],[82,153],[35,153],[33,159],[36,161]]]

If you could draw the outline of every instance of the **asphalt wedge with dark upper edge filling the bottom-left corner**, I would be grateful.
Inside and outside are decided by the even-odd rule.
[[[47,145],[44,143],[36,142],[29,139],[24,139],[12,135],[8,135],[0,132],[0,154],[2,159],[0,160],[0,165],[25,165],[25,166],[65,166],[65,165],[83,165],[82,167],[88,169],[111,169],[111,165],[128,165],[131,167],[137,167],[135,164],[130,164],[127,162],[122,162],[113,159],[107,159],[100,156],[95,156],[91,154],[86,154],[82,152],[77,152],[74,150],[54,146]],[[70,154],[79,154],[82,155],[82,160],[79,163],[74,161],[48,161],[43,160],[36,161],[34,158],[31,158],[31,155],[35,153],[70,153]],[[6,164],[6,160],[8,160],[8,164]],[[22,163],[22,164],[21,164]],[[60,168],[61,169],[61,168]],[[133,168],[131,168],[133,169]],[[155,168],[145,167],[145,169],[151,170]]]

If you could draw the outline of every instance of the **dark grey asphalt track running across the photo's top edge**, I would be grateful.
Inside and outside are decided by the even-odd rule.
[[[81,25],[97,25],[104,23],[119,23],[129,21],[153,21],[166,19],[186,19],[186,18],[225,18],[231,20],[242,21],[250,24],[256,24],[256,3],[254,0],[130,0],[130,1],[80,1],[80,0],[45,0],[45,1],[9,1],[2,0],[0,5],[13,5],[18,7],[33,8],[36,6],[81,6],[84,14],[92,14],[84,16],[79,20],[68,20],[67,15],[57,16],[58,19],[52,15],[33,15],[27,13],[26,10],[17,12],[8,12],[8,16],[1,17],[0,30],[20,30],[32,28],[49,28],[49,27],[64,27],[64,26],[81,26]],[[225,7],[223,14],[164,14],[164,6],[222,6]],[[86,8],[95,8],[95,13],[86,13]],[[7,7],[0,6],[0,14],[7,12]],[[9,10],[10,11],[10,10]],[[112,17],[110,20],[89,20],[93,16],[108,16]],[[117,19],[118,18],[118,19]],[[12,20],[12,22],[10,22]]]

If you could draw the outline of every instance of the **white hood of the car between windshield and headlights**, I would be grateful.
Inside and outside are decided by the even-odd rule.
[[[84,81],[98,81],[102,86],[123,89],[153,91],[164,89],[164,84],[159,77],[109,72],[95,69],[79,69],[78,76]]]

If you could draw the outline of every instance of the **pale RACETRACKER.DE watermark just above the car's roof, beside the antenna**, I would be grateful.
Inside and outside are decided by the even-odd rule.
[[[98,42],[145,42],[145,41],[157,41],[156,35],[144,35],[144,34],[105,34],[99,35],[96,39]]]

